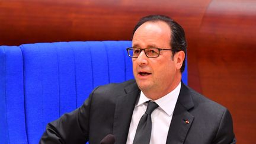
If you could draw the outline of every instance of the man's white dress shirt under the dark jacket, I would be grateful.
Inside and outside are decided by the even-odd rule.
[[[169,130],[169,125],[171,124],[172,114],[174,112],[175,105],[178,100],[178,95],[180,94],[181,83],[169,94],[165,95],[158,100],[155,100],[155,103],[159,105],[152,114],[152,131],[151,131],[151,144],[163,144],[167,141],[167,135]],[[147,103],[149,101],[148,97],[140,92],[139,100],[135,105],[133,110],[132,121],[130,123],[129,133],[127,136],[126,144],[132,144],[133,139],[135,138],[135,133],[137,125],[139,124],[140,118],[146,111]]]

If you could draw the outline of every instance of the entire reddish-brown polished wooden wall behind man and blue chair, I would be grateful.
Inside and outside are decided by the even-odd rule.
[[[1,0],[0,45],[130,40],[136,22],[149,14],[183,25],[190,87],[229,108],[238,143],[254,143],[254,0]]]

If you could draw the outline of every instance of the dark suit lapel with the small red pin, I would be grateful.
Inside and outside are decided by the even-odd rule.
[[[190,95],[190,90],[181,82],[181,91],[169,127],[167,144],[184,143],[188,130],[194,120],[194,116],[188,112],[193,107],[194,103]]]

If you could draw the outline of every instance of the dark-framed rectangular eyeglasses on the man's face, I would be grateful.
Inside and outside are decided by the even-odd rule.
[[[180,50],[175,50],[175,49],[160,49],[157,47],[147,47],[145,49],[140,49],[138,47],[129,47],[126,50],[128,52],[129,57],[133,57],[133,58],[139,57],[142,50],[144,50],[146,56],[150,57],[150,58],[158,57],[160,55],[161,50],[171,50],[172,52],[180,51]]]

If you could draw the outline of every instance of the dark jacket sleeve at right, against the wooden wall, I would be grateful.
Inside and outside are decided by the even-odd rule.
[[[233,133],[233,122],[231,113],[226,109],[219,123],[219,129],[217,130],[215,139],[213,140],[215,144],[226,144],[226,143],[236,143],[235,135]]]

